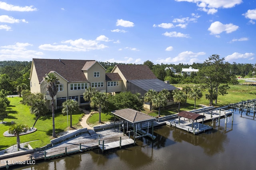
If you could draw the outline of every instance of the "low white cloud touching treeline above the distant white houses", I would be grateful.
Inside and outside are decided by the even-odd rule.
[[[205,52],[194,53],[192,51],[184,51],[182,53],[179,53],[178,56],[176,56],[176,57],[168,57],[166,59],[158,59],[157,62],[158,63],[174,63],[174,64],[179,64],[179,63],[192,64],[194,62],[199,63],[201,61],[197,57],[199,55],[205,55],[205,54],[206,54]]]

